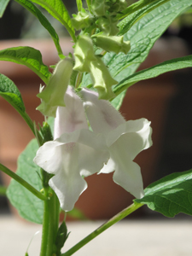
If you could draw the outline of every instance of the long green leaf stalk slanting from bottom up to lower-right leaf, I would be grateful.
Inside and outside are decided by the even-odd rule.
[[[96,236],[100,235],[103,231],[108,230],[109,227],[111,227],[113,224],[117,223],[122,218],[125,218],[131,212],[136,211],[138,208],[142,207],[143,204],[134,202],[130,207],[125,208],[123,211],[119,212],[117,215],[115,215],[113,218],[110,218],[108,222],[105,224],[102,224],[98,229],[90,233],[89,236],[84,237],[83,240],[79,241],[74,247],[69,249],[66,253],[62,253],[61,256],[70,256],[73,253],[76,253],[81,247],[84,247],[85,244],[87,244],[89,241],[93,240]]]

